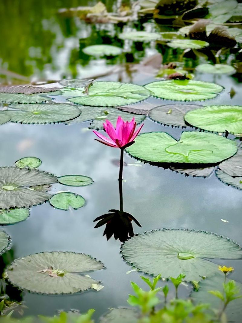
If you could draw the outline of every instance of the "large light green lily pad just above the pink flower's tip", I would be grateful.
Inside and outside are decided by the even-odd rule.
[[[83,105],[114,107],[147,99],[150,91],[142,86],[119,82],[95,82],[88,88],[88,94],[83,89],[76,89],[76,97],[68,99]]]

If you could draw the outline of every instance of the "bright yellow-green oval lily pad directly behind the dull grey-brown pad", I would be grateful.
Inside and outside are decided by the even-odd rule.
[[[193,80],[166,80],[145,86],[153,96],[166,100],[200,101],[215,98],[223,88],[220,85]]]

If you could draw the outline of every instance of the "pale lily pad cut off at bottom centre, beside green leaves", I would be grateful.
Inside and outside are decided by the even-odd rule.
[[[137,323],[139,314],[133,308],[111,308],[99,323]]]

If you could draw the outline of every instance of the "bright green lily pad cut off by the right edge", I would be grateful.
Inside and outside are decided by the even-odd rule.
[[[203,130],[242,134],[242,106],[211,105],[187,112],[184,119]]]

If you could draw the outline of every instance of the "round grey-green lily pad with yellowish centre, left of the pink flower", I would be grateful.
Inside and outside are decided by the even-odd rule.
[[[81,111],[71,104],[21,104],[8,110],[12,122],[45,124],[63,122],[78,117]]]

